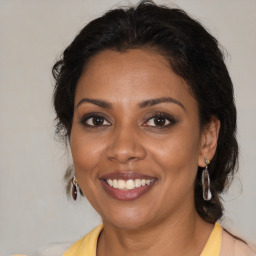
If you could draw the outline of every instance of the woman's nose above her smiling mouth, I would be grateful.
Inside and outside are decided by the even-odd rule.
[[[111,161],[122,164],[142,160],[146,157],[146,150],[141,142],[134,130],[116,129],[110,139],[107,157]]]

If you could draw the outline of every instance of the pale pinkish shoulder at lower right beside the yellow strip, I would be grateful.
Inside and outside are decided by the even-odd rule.
[[[222,230],[220,256],[255,256],[255,248],[245,241],[233,236],[226,230]]]

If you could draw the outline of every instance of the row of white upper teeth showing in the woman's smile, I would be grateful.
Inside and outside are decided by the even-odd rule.
[[[117,188],[120,190],[131,190],[134,188],[139,188],[141,186],[146,186],[150,185],[151,182],[153,182],[154,179],[152,180],[146,180],[146,179],[135,179],[135,180],[111,180],[108,179],[107,183],[110,187]]]

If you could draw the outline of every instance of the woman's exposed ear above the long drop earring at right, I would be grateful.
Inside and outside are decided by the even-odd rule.
[[[208,125],[201,132],[200,153],[198,166],[205,167],[205,159],[211,160],[216,152],[220,131],[220,120],[212,117]]]

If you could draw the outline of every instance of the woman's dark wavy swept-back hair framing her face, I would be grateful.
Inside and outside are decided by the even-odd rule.
[[[220,194],[237,167],[233,85],[218,41],[183,10],[144,0],[135,7],[108,11],[86,25],[52,69],[56,131],[69,139],[76,85],[92,56],[106,49],[124,52],[143,48],[163,55],[173,71],[185,79],[198,103],[201,129],[213,117],[221,122],[217,150],[209,166],[210,201],[202,196],[200,167],[195,180],[196,210],[205,221],[214,223],[223,215]]]

